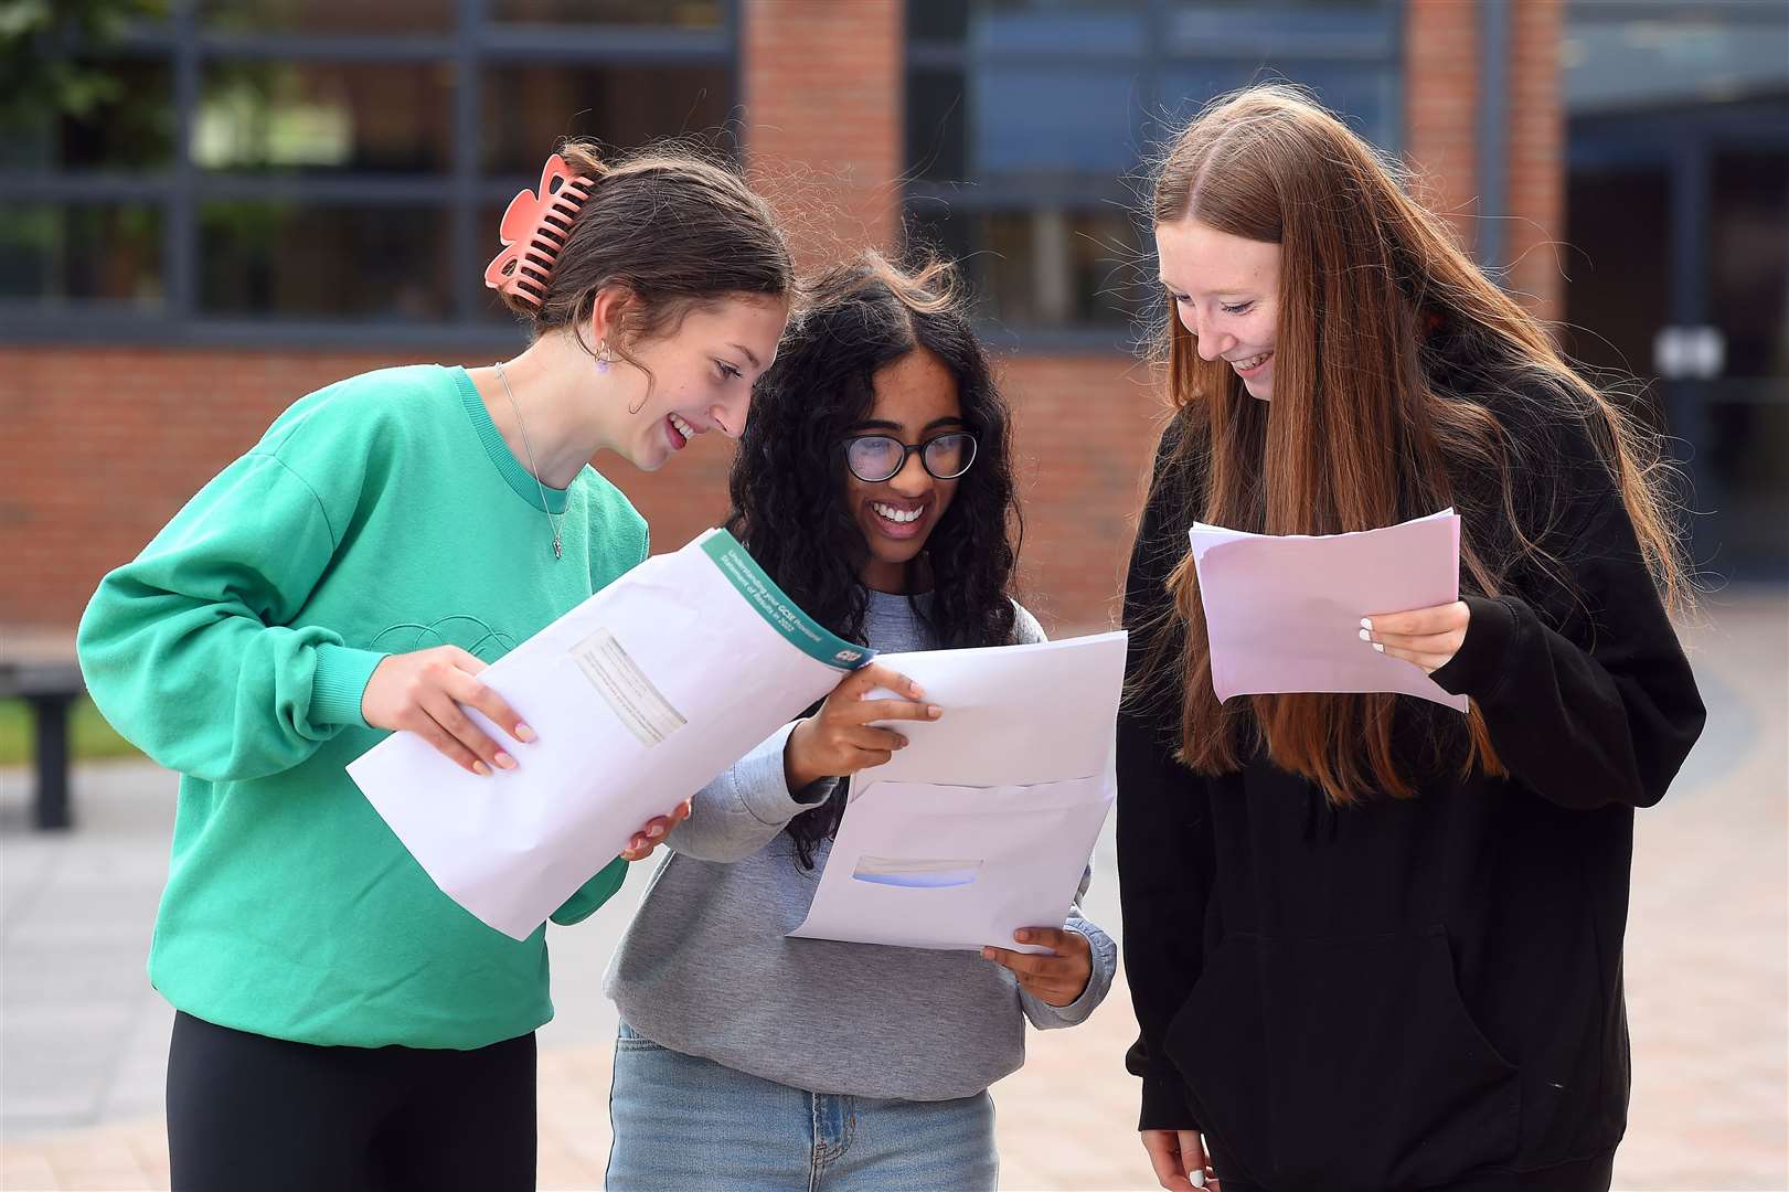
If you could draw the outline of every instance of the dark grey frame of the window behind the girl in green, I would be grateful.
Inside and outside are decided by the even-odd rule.
[[[492,21],[487,0],[454,0],[454,29],[438,36],[404,34],[261,34],[200,27],[193,0],[174,0],[165,21],[134,29],[107,54],[168,61],[174,73],[175,138],[163,172],[0,170],[0,199],[9,202],[143,204],[163,213],[163,292],[156,311],[120,311],[111,302],[0,301],[0,344],[156,344],[216,347],[467,347],[513,345],[517,331],[492,322],[483,274],[497,249],[496,229],[481,213],[501,208],[538,175],[479,177],[483,68],[515,63],[719,64],[730,77],[726,107],[741,91],[739,0],[719,0],[712,30],[630,25],[526,25]],[[206,172],[193,166],[191,134],[199,81],[213,59],[390,63],[431,61],[454,66],[453,166],[442,175],[345,174],[342,177]],[[199,204],[211,199],[284,199],[367,206],[428,206],[445,211],[453,277],[453,315],[440,320],[231,319],[197,304]]]

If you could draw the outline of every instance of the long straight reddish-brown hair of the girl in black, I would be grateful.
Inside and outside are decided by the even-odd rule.
[[[1279,328],[1274,396],[1259,401],[1224,360],[1200,360],[1170,311],[1157,351],[1181,424],[1179,456],[1152,485],[1191,476],[1181,494],[1188,514],[1258,533],[1370,530],[1454,505],[1465,587],[1496,596],[1522,562],[1551,569],[1539,539],[1564,510],[1553,499],[1535,512],[1522,499],[1535,485],[1546,494],[1556,476],[1533,474],[1546,460],[1524,460],[1521,430],[1490,403],[1505,412],[1512,401],[1540,403],[1531,412],[1540,422],[1565,415],[1589,435],[1666,605],[1682,607],[1689,585],[1657,437],[1560,356],[1401,179],[1340,120],[1281,84],[1213,102],[1172,143],[1157,165],[1154,222],[1191,218],[1277,243]],[[1256,694],[1225,709],[1211,689],[1190,558],[1168,587],[1174,603],[1163,616],[1181,621],[1184,646],[1179,657],[1157,655],[1152,669],[1172,668],[1172,687],[1184,693],[1188,766],[1234,771],[1252,734],[1333,804],[1413,793],[1392,748],[1397,696]],[[1154,678],[1143,682],[1163,689]],[[1451,748],[1446,721],[1431,723],[1435,746],[1462,771],[1503,773],[1476,707]]]

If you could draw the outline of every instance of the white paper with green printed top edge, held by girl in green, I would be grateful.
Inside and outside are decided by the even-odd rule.
[[[513,743],[467,709],[517,770],[481,779],[410,732],[349,764],[435,884],[497,931],[528,938],[642,823],[869,655],[807,621],[730,537],[714,537],[648,558],[479,675],[538,734]]]

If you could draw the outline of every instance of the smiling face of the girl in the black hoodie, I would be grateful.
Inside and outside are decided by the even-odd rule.
[[[1279,245],[1186,218],[1156,224],[1161,285],[1206,360],[1225,360],[1251,396],[1274,396]]]

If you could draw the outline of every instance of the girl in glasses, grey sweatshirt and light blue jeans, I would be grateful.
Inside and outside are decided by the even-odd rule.
[[[1009,596],[1009,413],[932,265],[866,254],[821,279],[757,385],[728,530],[821,625],[878,651],[1043,641]],[[866,700],[886,687],[905,698]],[[703,788],[610,963],[621,1011],[608,1187],[993,1188],[988,1086],[1025,1020],[1075,1026],[1116,956],[1079,911],[1047,954],[789,940],[848,775],[939,711],[886,668],[848,677]],[[1082,879],[1082,891],[1086,890]]]

